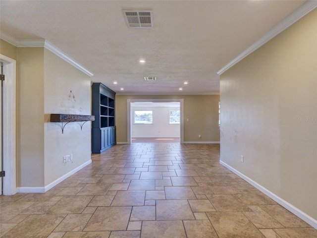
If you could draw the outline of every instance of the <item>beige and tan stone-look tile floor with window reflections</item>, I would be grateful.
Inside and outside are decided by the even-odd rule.
[[[1,238],[316,238],[219,145],[116,145],[44,194],[0,196]]]

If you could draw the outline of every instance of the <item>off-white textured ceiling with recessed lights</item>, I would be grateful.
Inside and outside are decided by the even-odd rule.
[[[219,69],[304,2],[0,0],[0,30],[48,40],[117,93],[208,94],[219,92]],[[154,28],[128,28],[122,9],[153,10]]]

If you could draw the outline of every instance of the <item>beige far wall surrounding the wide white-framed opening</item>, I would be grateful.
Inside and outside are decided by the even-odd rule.
[[[127,142],[128,99],[184,99],[184,142],[219,141],[219,95],[117,95],[115,97],[117,142]],[[198,138],[199,134],[202,138]]]

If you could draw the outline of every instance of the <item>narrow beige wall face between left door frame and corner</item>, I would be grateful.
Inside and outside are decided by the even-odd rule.
[[[18,48],[17,186],[44,186],[44,48]]]

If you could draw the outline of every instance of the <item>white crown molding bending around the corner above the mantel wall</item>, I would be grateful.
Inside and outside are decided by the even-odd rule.
[[[54,53],[56,56],[60,57],[61,59],[65,60],[66,62],[70,63],[74,67],[78,68],[80,71],[86,73],[88,76],[92,77],[94,74],[86,69],[84,66],[76,62],[76,60],[72,59],[71,57],[67,56],[64,52],[59,50],[55,47],[51,42],[45,39],[22,39],[17,40],[13,37],[9,36],[5,32],[0,32],[0,38],[15,47],[44,47]]]

